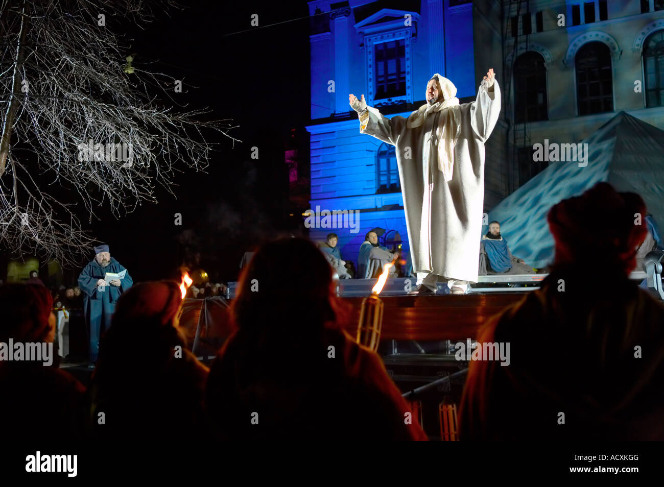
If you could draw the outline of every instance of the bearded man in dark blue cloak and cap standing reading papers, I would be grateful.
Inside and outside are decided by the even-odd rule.
[[[120,295],[133,280],[124,266],[111,257],[108,245],[94,247],[94,259],[78,276],[78,287],[83,291],[83,313],[90,330],[90,361],[96,362],[99,355],[99,338],[111,326],[111,316]],[[106,273],[116,273],[119,279],[108,283]]]

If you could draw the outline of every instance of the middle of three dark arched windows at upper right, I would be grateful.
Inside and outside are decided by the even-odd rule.
[[[576,99],[579,115],[614,109],[611,53],[604,42],[588,42],[576,53]]]

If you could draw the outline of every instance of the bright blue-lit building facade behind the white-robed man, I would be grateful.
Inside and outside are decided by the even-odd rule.
[[[490,66],[483,53],[491,50],[473,43],[473,17],[481,14],[483,22],[495,21],[493,31],[499,35],[499,7],[481,12],[477,7],[473,10],[470,2],[451,1],[452,5],[450,0],[309,2],[311,125],[306,128],[311,133],[310,208],[315,210],[318,205],[360,212],[357,234],[345,228],[310,228],[309,237],[319,241],[330,232],[338,234],[345,259],[357,263],[364,236],[374,227],[396,230],[408,248],[402,194],[377,193],[376,155],[382,142],[360,133],[357,114],[349,107],[349,93],[358,98],[365,94],[367,103],[388,117],[407,116],[424,104],[426,84],[435,72],[454,82],[457,97],[464,103],[475,100],[484,74],[476,72],[475,66]],[[494,3],[498,5],[487,0],[487,5]],[[406,45],[405,93],[390,100],[373,100],[374,46],[399,38]],[[500,44],[501,39],[497,37],[495,42]],[[493,65],[499,63],[498,56]],[[487,147],[487,157],[492,150],[500,151]],[[489,171],[499,172],[502,166],[495,163],[491,167]],[[494,200],[503,196],[498,189]]]

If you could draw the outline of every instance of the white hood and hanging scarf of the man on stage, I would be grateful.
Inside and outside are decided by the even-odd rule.
[[[406,126],[409,129],[419,127],[429,114],[442,111],[438,120],[438,127],[435,128],[437,140],[440,141],[438,143],[438,169],[442,171],[445,180],[450,181],[454,170],[454,145],[461,131],[459,99],[456,98],[456,86],[448,78],[436,73],[431,79],[438,80],[444,100],[433,105],[422,105],[417,111],[410,114]]]

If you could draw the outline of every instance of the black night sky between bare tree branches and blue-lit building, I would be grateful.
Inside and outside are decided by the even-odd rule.
[[[173,96],[191,109],[209,107],[215,119],[233,119],[242,143],[233,148],[230,139],[210,139],[220,146],[207,174],[178,178],[177,200],[158,190],[159,204],[143,204],[121,220],[102,210],[94,235],[138,280],[173,275],[183,259],[175,236],[187,228],[199,238],[189,251],[201,251],[203,267],[226,280],[234,279],[248,245],[288,226],[283,141],[309,119],[309,21],[293,19],[307,17],[307,4],[195,3],[170,18],[159,15],[145,31],[127,29],[134,38],[127,54],[135,53],[138,68],[182,79],[183,93]],[[254,13],[265,27],[250,25]],[[257,161],[250,159],[252,146],[259,147]]]

